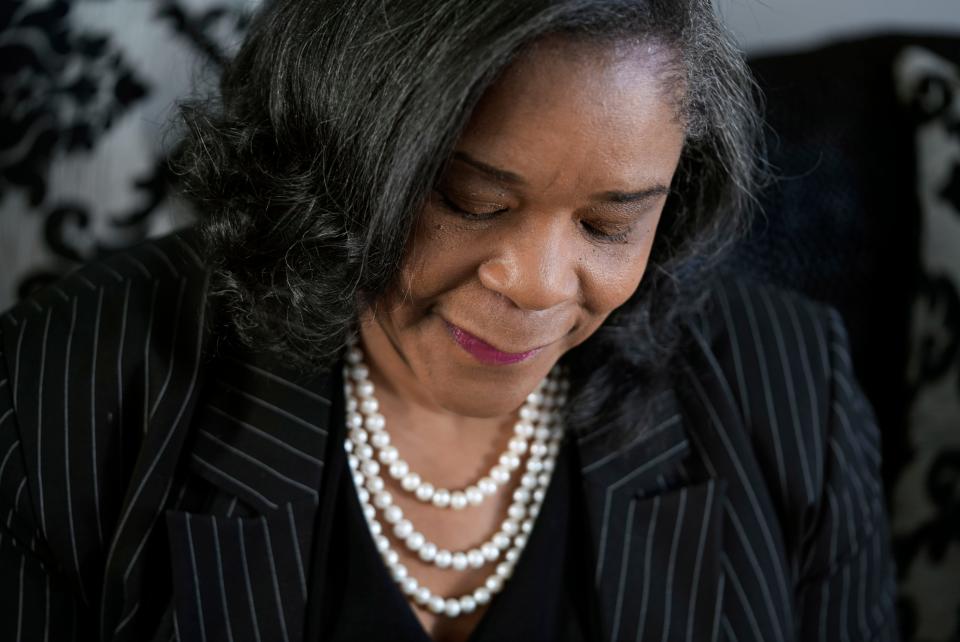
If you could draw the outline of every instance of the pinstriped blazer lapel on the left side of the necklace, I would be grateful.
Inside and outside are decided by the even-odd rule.
[[[302,380],[262,357],[221,360],[184,459],[234,501],[167,511],[179,639],[302,639],[329,379]]]

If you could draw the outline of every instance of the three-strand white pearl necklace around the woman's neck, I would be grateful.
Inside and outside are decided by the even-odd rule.
[[[346,361],[344,393],[348,434],[344,449],[353,471],[357,497],[377,550],[394,581],[417,604],[447,617],[472,613],[478,605],[489,602],[503,588],[504,582],[513,574],[513,568],[533,530],[533,522],[543,504],[560,450],[563,431],[557,419],[557,410],[565,403],[567,383],[553,373],[544,379],[520,408],[514,435],[497,464],[476,484],[451,491],[425,482],[410,470],[409,464],[400,458],[396,447],[391,445],[386,421],[379,412],[373,383],[369,379],[370,372],[363,363],[363,353],[355,343],[350,345]],[[524,455],[527,456],[524,473],[513,492],[513,502],[500,528],[479,546],[465,551],[450,551],[428,541],[404,517],[403,510],[394,503],[380,475],[383,465],[390,476],[400,482],[401,489],[418,501],[441,509],[463,510],[482,504],[498,488],[507,484],[513,471],[520,468]],[[443,598],[420,584],[400,562],[399,553],[384,534],[384,522],[392,527],[393,534],[409,551],[438,568],[464,571],[497,562],[501,556],[503,561],[472,592]]]

